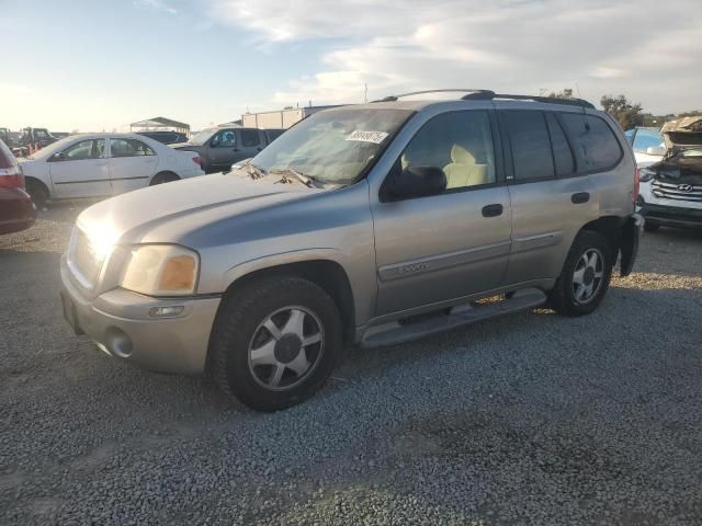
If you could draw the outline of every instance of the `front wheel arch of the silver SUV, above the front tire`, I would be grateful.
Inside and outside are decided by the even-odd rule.
[[[341,315],[344,342],[353,341],[355,329],[353,289],[351,288],[351,282],[346,270],[336,261],[329,259],[310,259],[251,270],[231,281],[223,296],[234,296],[238,290],[252,282],[280,276],[295,276],[307,279],[329,294]]]

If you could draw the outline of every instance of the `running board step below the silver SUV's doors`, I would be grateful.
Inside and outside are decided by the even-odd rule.
[[[453,307],[448,313],[417,321],[414,323],[400,323],[392,321],[375,327],[370,327],[361,339],[362,347],[378,347],[397,345],[419,338],[450,331],[463,325],[469,325],[477,321],[511,315],[521,310],[540,307],[546,302],[546,295],[537,288],[526,288],[516,291],[508,299],[494,304],[475,306],[465,304]]]

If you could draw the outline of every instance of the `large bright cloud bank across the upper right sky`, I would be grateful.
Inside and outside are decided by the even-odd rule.
[[[649,108],[700,104],[690,89],[702,85],[699,0],[212,1],[217,20],[253,31],[263,44],[316,43],[319,71],[290,79],[275,102],[359,102],[367,82],[372,98],[445,87],[577,87],[593,100],[624,92]]]

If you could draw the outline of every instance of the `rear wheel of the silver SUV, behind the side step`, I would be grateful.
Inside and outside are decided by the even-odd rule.
[[[592,293],[587,299],[578,299],[576,290],[580,295],[581,288],[575,283],[575,274],[580,270],[584,271],[582,275],[586,274],[587,268],[582,267],[584,258],[593,253],[600,254],[598,259],[601,260],[601,276],[593,277],[599,273],[598,271],[589,273],[589,276],[586,275],[585,282],[588,277],[592,278],[590,282]],[[597,309],[609,288],[614,258],[615,251],[604,236],[589,230],[581,231],[573,242],[561,276],[551,290],[548,296],[551,307],[561,315],[571,317],[589,315]]]

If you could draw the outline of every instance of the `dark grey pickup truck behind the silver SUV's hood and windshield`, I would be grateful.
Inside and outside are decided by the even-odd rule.
[[[284,129],[240,127],[207,128],[195,134],[188,142],[170,145],[177,150],[196,151],[205,173],[229,170],[231,164],[256,157],[273,142]]]

